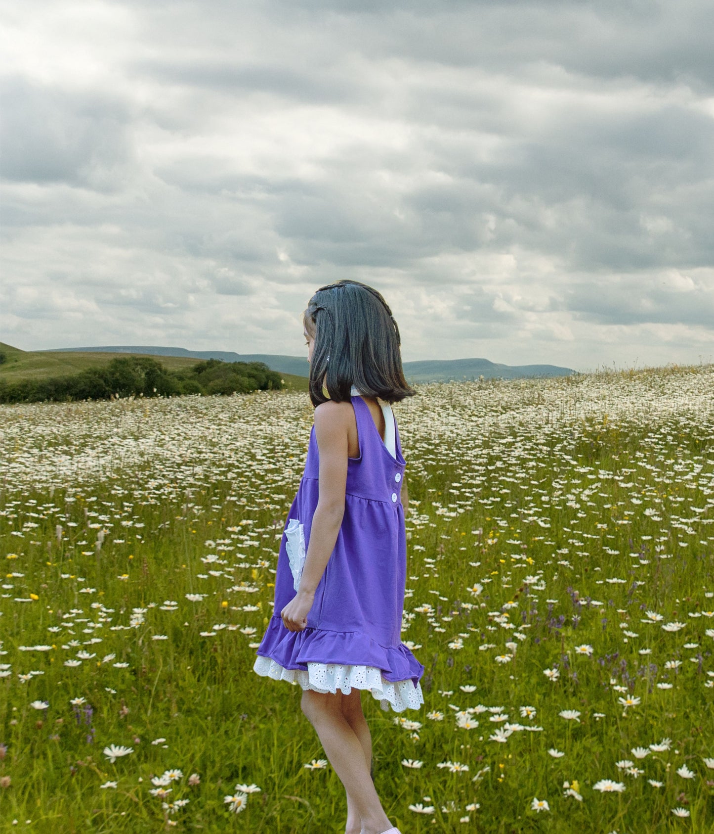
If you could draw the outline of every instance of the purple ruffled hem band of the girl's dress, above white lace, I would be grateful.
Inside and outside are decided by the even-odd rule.
[[[380,646],[362,631],[329,631],[312,625],[302,631],[288,631],[278,615],[268,621],[256,653],[272,658],[288,671],[307,671],[311,662],[372,666],[387,683],[411,679],[415,687],[424,674],[424,666],[403,643]]]

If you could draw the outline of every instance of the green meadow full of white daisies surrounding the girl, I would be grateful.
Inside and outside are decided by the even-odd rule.
[[[417,386],[392,824],[711,831],[714,366]],[[252,671],[307,394],[2,407],[2,831],[344,831]]]

